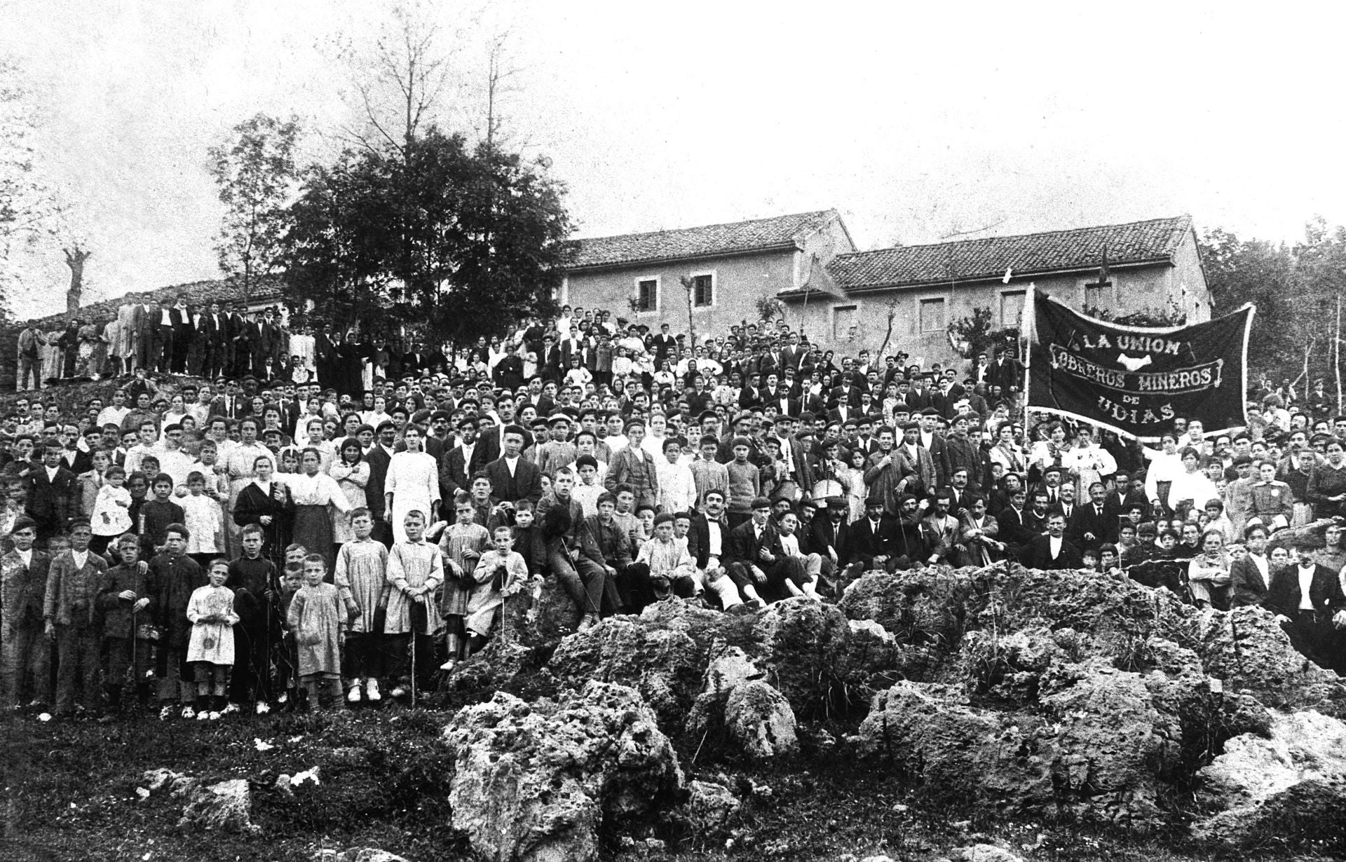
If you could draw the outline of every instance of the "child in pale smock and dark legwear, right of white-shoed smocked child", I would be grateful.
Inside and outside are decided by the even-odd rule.
[[[406,512],[402,530],[406,541],[396,542],[388,554],[388,582],[392,589],[388,593],[388,621],[384,627],[385,633],[393,635],[389,648],[398,656],[397,687],[390,691],[394,698],[409,694],[412,674],[417,679],[429,678],[435,655],[433,635],[443,627],[435,590],[444,582],[444,555],[439,547],[425,541],[425,514],[420,510]]]

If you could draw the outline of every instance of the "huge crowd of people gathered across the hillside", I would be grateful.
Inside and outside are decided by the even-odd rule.
[[[1012,346],[922,367],[783,321],[692,343],[565,307],[421,354],[273,317],[234,350],[132,338],[86,368],[118,378],[110,403],[24,390],[3,417],[5,703],[211,719],[413,699],[506,612],[532,621],[548,580],[587,629],[670,596],[742,613],[1007,558],[1261,604],[1343,668],[1341,530],[1267,553],[1346,515],[1326,399],[1250,393],[1246,429],[1178,418],[1145,448],[1026,425]]]

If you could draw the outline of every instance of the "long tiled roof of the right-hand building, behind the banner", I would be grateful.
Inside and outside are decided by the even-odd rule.
[[[913,286],[941,281],[1015,277],[1108,265],[1168,260],[1191,230],[1191,217],[1128,225],[1053,230],[1018,237],[879,249],[839,254],[828,272],[845,290]]]

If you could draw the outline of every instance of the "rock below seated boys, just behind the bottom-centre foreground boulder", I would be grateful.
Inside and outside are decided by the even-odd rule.
[[[612,682],[641,693],[665,726],[686,717],[701,684],[704,658],[688,635],[653,628],[633,617],[611,617],[565,637],[551,671],[563,683]]]

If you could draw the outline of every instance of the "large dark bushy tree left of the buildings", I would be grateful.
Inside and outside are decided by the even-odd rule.
[[[541,161],[435,126],[312,168],[287,211],[285,280],[338,327],[408,328],[468,343],[552,293],[571,231]]]

